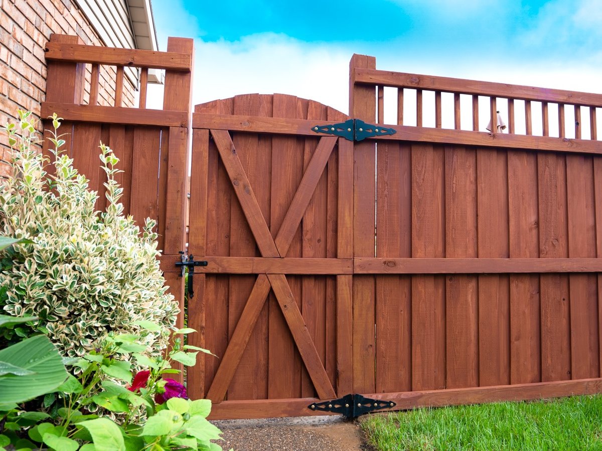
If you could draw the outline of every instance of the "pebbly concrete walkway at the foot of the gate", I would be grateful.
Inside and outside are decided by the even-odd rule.
[[[224,420],[212,422],[222,429],[225,451],[367,451],[362,431],[343,416]]]

